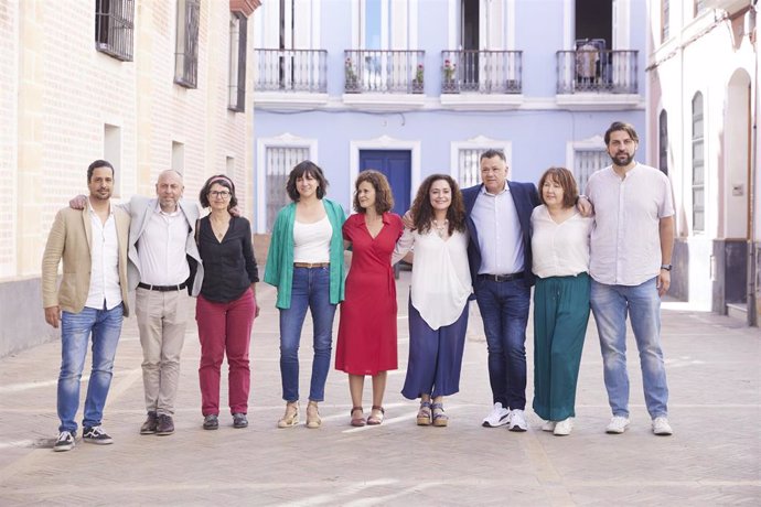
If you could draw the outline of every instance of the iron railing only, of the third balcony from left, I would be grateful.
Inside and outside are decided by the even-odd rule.
[[[442,51],[441,93],[521,94],[522,51]]]

